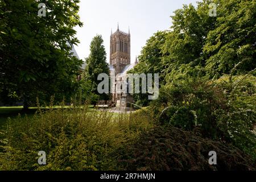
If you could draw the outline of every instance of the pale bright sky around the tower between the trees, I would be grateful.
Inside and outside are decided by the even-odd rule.
[[[90,54],[93,37],[102,35],[109,63],[111,30],[131,33],[131,63],[141,53],[146,41],[155,32],[168,30],[172,25],[171,15],[184,4],[196,6],[199,0],[80,0],[80,20],[83,27],[75,27],[80,44],[75,46],[80,59]]]

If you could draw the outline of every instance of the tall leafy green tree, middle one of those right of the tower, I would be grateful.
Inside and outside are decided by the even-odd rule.
[[[171,32],[162,48],[166,82],[188,76],[204,76],[203,47],[208,32],[214,29],[215,17],[209,16],[210,1],[199,2],[197,8],[184,5],[175,11]]]

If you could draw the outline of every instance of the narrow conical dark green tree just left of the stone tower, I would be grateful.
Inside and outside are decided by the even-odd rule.
[[[101,35],[97,35],[90,43],[90,55],[86,58],[86,68],[84,71],[85,80],[92,82],[92,92],[98,94],[101,100],[108,100],[107,94],[99,94],[97,92],[97,86],[101,80],[98,80],[98,75],[106,73],[109,75],[109,66],[106,63],[106,51],[103,45],[103,39]],[[95,104],[95,103],[94,103]]]

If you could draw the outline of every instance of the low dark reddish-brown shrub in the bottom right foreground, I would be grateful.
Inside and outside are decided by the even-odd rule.
[[[209,151],[217,152],[217,165],[209,165]],[[198,137],[173,126],[143,132],[127,146],[119,165],[129,171],[247,171],[256,163],[238,148]]]

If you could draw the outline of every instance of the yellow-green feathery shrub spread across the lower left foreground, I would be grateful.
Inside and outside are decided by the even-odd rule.
[[[38,110],[34,118],[9,120],[1,133],[1,170],[113,170],[119,148],[152,127],[146,116],[114,115],[88,106]],[[47,165],[39,166],[38,152]]]

